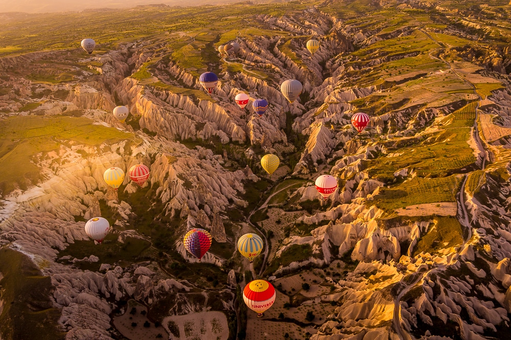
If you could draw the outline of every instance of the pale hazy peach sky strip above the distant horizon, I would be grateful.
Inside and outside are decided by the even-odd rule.
[[[138,5],[165,4],[170,6],[193,6],[226,4],[245,0],[0,0],[3,12],[65,12],[88,8],[126,8]]]

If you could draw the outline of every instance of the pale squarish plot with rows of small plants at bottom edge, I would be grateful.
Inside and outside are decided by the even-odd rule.
[[[172,334],[174,323],[179,328],[179,336]],[[227,318],[220,311],[205,311],[167,317],[162,322],[163,327],[171,333],[170,340],[226,340],[229,337]]]

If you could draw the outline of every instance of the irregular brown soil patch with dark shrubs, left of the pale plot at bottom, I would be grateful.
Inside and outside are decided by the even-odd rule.
[[[130,314],[132,307],[136,308],[135,315]],[[146,316],[142,315],[141,312],[143,310],[147,312],[147,308],[145,306],[134,300],[129,300],[126,312],[120,317],[114,317],[113,325],[121,332],[121,334],[130,340],[156,339],[158,334],[161,334],[164,339],[167,339],[169,335],[165,328],[162,326],[155,327]],[[144,327],[144,323],[146,321],[151,323],[150,327]],[[136,323],[135,327],[131,326],[132,322]]]

